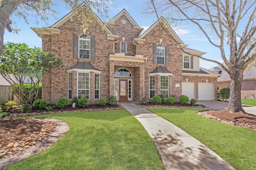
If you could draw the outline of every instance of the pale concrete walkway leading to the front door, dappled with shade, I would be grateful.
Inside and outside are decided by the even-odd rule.
[[[220,156],[172,123],[136,104],[121,105],[144,126],[166,170],[234,170]]]

